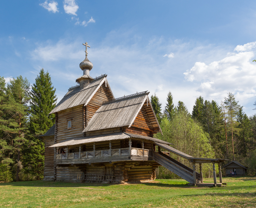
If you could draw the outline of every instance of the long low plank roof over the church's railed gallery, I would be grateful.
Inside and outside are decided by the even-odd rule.
[[[100,135],[93,135],[93,136],[86,136],[86,137],[78,137],[73,139],[67,139],[57,144],[51,145],[49,147],[62,147],[62,146],[70,146],[70,145],[77,145],[77,144],[86,144],[92,142],[102,142],[102,141],[111,141],[111,140],[119,140],[119,139],[129,139],[129,138],[140,138],[146,139],[158,143],[163,143],[165,145],[171,144],[169,142],[165,142],[156,138],[141,136],[138,134],[131,134],[131,133],[111,133],[111,134],[100,134]]]

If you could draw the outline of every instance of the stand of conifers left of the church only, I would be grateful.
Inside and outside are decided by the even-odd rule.
[[[44,174],[44,141],[38,137],[54,123],[56,89],[41,69],[30,86],[19,76],[0,77],[0,181],[39,180]]]

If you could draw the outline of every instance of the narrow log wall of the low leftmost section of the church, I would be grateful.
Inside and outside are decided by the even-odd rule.
[[[48,148],[48,146],[54,144],[54,136],[44,137],[44,140],[45,140],[44,180],[54,180],[54,148]]]

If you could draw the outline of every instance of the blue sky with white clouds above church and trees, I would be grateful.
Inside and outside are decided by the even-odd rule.
[[[114,96],[148,90],[164,108],[168,91],[192,111],[196,97],[219,104],[232,92],[256,111],[254,1],[3,1],[0,76],[32,84],[48,70],[58,101],[93,63]]]

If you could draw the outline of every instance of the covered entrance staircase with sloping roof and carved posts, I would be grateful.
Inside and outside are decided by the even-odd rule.
[[[198,157],[192,157],[188,154],[185,154],[179,150],[176,150],[173,147],[170,147],[167,144],[154,142],[158,146],[158,153],[153,152],[153,159],[158,164],[166,167],[168,170],[172,171],[179,177],[185,179],[189,182],[189,185],[197,185],[197,186],[221,186],[222,185],[222,175],[221,175],[221,167],[220,162],[224,162],[225,160],[222,159],[215,159],[215,158],[198,158]],[[179,155],[183,158],[186,158],[190,163],[193,164],[193,169],[187,167],[186,165],[178,162],[177,160],[174,160],[172,157],[169,157],[161,152],[161,147],[165,150],[168,150],[176,155]],[[199,164],[200,173],[196,172],[195,164]],[[213,178],[214,183],[204,183],[203,182],[203,176],[202,176],[202,163],[212,163],[213,168]],[[219,167],[219,178],[220,182],[217,183],[216,179],[216,172],[215,172],[215,163],[218,164]]]

